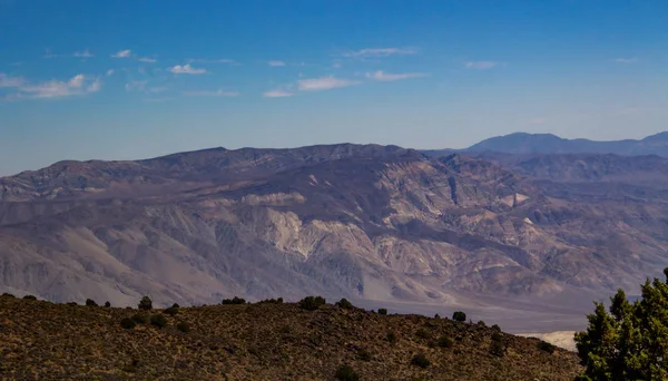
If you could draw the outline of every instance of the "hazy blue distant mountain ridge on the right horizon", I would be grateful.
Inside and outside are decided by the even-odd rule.
[[[616,154],[621,156],[657,155],[668,157],[668,131],[640,140],[598,141],[564,139],[552,134],[514,133],[484,139],[463,150],[502,154]]]

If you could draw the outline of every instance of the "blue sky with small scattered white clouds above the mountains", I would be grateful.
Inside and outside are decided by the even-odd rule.
[[[668,1],[0,0],[0,175],[668,129]]]

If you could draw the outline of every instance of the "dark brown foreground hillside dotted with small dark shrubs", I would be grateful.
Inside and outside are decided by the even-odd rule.
[[[147,322],[121,326],[137,314]],[[576,354],[550,352],[484,323],[333,305],[138,311],[0,296],[2,380],[335,380],[342,365],[360,380],[572,380]]]

